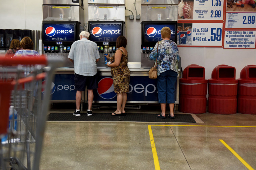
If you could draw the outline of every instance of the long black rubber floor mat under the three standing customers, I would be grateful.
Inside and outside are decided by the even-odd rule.
[[[196,123],[190,114],[175,114],[175,119],[157,118],[157,114],[147,113],[127,113],[126,116],[111,116],[110,113],[93,113],[93,116],[87,116],[81,113],[81,116],[75,116],[73,113],[50,113],[47,121],[127,121],[127,122],[182,122]]]

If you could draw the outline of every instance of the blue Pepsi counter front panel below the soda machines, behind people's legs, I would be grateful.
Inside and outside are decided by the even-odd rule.
[[[137,67],[133,64],[128,63],[131,77],[127,103],[158,103],[157,83],[156,80],[148,78],[149,68],[132,68]],[[175,104],[179,103],[179,75],[177,77]],[[110,68],[98,68],[98,76],[98,89],[94,90],[93,103],[116,103],[117,94],[114,92]],[[50,102],[75,102],[74,69],[58,68],[52,87],[52,100]],[[87,92],[83,93],[82,102],[87,103]]]

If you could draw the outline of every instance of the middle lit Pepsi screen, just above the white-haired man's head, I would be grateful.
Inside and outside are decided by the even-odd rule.
[[[94,42],[116,42],[117,38],[122,35],[122,24],[90,24],[90,40]]]

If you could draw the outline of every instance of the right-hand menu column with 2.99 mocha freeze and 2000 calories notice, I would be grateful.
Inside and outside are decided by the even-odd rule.
[[[255,49],[256,1],[227,0],[224,48]]]

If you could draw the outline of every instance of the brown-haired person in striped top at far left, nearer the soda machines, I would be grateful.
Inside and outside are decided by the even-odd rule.
[[[29,57],[29,56],[40,56],[39,53],[33,50],[33,41],[29,37],[24,37],[21,42],[21,49],[18,50],[13,57]]]

